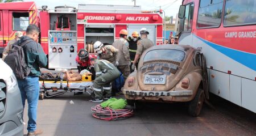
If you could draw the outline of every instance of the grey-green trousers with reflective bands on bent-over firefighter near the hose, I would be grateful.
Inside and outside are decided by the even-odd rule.
[[[110,83],[113,82],[116,78],[120,76],[119,71],[110,70],[107,73],[104,73],[98,76],[93,81],[93,93],[96,99],[101,99],[103,97],[103,93],[105,93],[106,97],[111,96],[111,86]]]

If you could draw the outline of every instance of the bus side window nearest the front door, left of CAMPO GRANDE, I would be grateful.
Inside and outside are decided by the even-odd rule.
[[[197,28],[219,27],[223,0],[201,0],[197,17]]]

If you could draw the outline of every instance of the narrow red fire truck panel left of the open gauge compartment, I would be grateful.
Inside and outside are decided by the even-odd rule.
[[[40,31],[41,31],[41,45],[43,47],[44,53],[48,54],[48,30],[49,28],[49,13],[40,12]]]

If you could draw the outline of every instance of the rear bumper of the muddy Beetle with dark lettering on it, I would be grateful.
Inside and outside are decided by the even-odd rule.
[[[133,91],[123,90],[125,98],[128,100],[146,101],[167,101],[167,102],[186,102],[191,101],[195,96],[193,90],[180,91]]]

